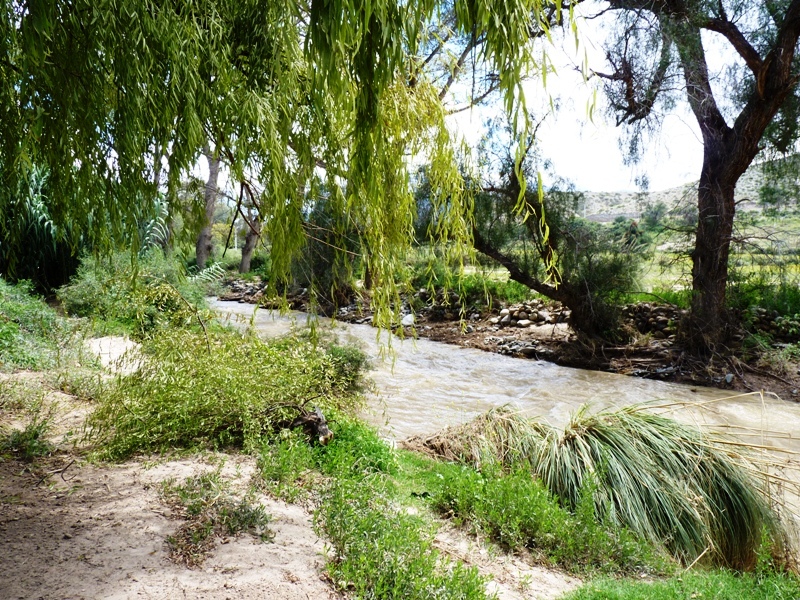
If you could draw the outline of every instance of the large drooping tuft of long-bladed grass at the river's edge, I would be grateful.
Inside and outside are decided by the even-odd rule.
[[[501,408],[408,445],[478,467],[526,466],[570,510],[591,486],[598,518],[687,564],[751,569],[765,536],[782,552],[788,536],[746,448],[645,408],[584,407],[563,429]]]

